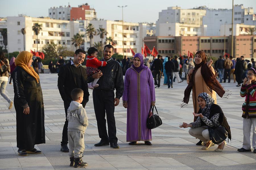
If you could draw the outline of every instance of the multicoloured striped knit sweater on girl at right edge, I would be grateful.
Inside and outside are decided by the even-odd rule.
[[[256,118],[256,81],[249,85],[242,85],[240,95],[245,97],[242,117]]]

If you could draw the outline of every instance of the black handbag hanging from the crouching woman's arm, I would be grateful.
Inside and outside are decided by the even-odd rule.
[[[213,122],[213,124],[215,126],[208,128],[210,140],[214,144],[222,143],[225,139],[227,139],[228,132],[223,126],[217,126],[215,122]]]

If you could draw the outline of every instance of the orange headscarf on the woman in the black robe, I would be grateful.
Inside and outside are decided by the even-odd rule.
[[[39,83],[39,76],[38,74],[35,72],[34,68],[32,68],[31,66],[28,66],[28,62],[30,61],[30,59],[32,59],[33,54],[28,52],[28,51],[21,51],[18,56],[16,57],[14,63],[15,66],[20,66],[21,68],[23,68],[23,70],[25,70],[28,74],[30,74],[33,78],[36,79],[36,82]]]

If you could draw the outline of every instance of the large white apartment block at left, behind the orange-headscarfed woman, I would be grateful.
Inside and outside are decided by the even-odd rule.
[[[42,24],[42,30],[38,34],[38,40],[32,30],[35,24]],[[32,18],[27,16],[7,17],[7,31],[9,39],[9,51],[23,51],[23,35],[21,29],[25,28],[25,51],[42,51],[45,44],[61,44],[68,50],[75,51],[75,46],[71,45],[71,38],[79,31],[78,21],[53,20],[47,18]]]

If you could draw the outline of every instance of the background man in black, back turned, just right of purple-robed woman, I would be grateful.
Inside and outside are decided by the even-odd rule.
[[[163,62],[162,62],[162,60],[160,59],[160,57],[161,57],[161,55],[157,55],[157,59],[155,59],[154,61],[153,61],[153,64],[152,64],[152,66],[151,66],[151,70],[153,70],[154,71],[154,80],[155,80],[155,85],[156,85],[156,87],[160,87],[160,80],[161,80],[161,78],[160,78],[160,76],[161,76],[161,72],[163,72],[163,70],[164,70],[164,66],[163,66]],[[157,76],[157,78],[158,78],[158,82],[156,81],[156,76]],[[155,88],[156,88],[155,87]]]

